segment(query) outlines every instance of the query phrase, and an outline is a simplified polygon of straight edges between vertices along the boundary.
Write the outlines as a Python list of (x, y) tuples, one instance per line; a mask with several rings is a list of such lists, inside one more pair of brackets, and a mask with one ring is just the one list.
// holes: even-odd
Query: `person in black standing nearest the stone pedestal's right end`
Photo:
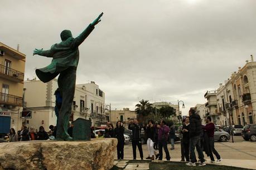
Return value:
[(124, 159), (124, 127), (121, 121), (117, 122), (114, 129), (114, 137), (117, 138), (117, 159)]

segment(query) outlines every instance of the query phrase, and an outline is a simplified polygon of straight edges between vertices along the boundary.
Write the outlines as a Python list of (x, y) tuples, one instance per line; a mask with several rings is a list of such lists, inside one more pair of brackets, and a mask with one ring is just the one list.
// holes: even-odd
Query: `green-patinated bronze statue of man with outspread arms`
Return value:
[(43, 49), (33, 51), (33, 55), (53, 58), (49, 66), (36, 69), (36, 75), (42, 82), (49, 82), (60, 74), (58, 86), (62, 96), (62, 106), (57, 119), (57, 140), (73, 141), (73, 138), (67, 133), (67, 124), (69, 123), (75, 93), (76, 68), (79, 62), (78, 47), (93, 31), (94, 26), (101, 21), (100, 17), (102, 16), (103, 13), (93, 23), (89, 24), (78, 37), (73, 38), (71, 31), (64, 30), (60, 34), (60, 43), (52, 45), (51, 49), (46, 51)]

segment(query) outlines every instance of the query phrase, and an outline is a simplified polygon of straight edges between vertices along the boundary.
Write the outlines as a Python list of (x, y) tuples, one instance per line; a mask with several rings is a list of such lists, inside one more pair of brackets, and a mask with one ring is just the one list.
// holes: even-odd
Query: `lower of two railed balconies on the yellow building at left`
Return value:
[(22, 106), (23, 98), (11, 94), (0, 93), (0, 104)]

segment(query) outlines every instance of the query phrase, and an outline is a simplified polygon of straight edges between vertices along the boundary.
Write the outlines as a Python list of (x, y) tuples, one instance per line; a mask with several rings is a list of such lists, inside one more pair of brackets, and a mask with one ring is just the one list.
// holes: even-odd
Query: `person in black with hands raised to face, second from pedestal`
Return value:
[(141, 126), (138, 124), (138, 120), (134, 119), (130, 121), (128, 129), (132, 131), (132, 151), (133, 151), (133, 159), (136, 159), (136, 146), (139, 149), (139, 156), (143, 160), (143, 151), (141, 145)]

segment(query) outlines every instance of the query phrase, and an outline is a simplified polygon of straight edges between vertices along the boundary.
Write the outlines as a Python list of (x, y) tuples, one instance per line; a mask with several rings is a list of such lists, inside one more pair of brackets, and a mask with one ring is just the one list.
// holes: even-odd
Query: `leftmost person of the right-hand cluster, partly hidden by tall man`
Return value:
[(182, 143), (183, 143), (184, 156), (185, 156), (187, 162), (190, 162), (190, 159), (189, 159), (189, 128), (190, 128), (189, 117), (186, 117), (185, 123), (182, 126), (182, 134), (183, 134)]

